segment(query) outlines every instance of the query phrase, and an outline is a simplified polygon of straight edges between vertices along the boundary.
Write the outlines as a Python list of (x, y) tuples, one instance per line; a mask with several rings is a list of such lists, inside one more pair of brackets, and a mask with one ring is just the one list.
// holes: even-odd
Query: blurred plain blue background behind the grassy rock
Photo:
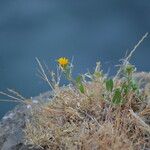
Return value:
[[(149, 0), (0, 0), (0, 91), (12, 88), (33, 97), (49, 87), (35, 57), (50, 69), (60, 56), (74, 56), (74, 75), (101, 60), (113, 75), (127, 50), (150, 31)], [(132, 58), (149, 71), (150, 37)], [(1, 97), (3, 98), (3, 97)], [(13, 103), (0, 103), (0, 118)]]

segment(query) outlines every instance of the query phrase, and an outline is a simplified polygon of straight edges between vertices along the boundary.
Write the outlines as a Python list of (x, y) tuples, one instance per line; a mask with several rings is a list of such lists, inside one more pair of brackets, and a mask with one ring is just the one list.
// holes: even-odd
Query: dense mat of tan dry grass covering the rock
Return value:
[(54, 150), (150, 148), (147, 99), (132, 96), (124, 106), (113, 106), (103, 98), (102, 82), (84, 86), (85, 94), (73, 87), (58, 89), (51, 102), (32, 109), (26, 143)]

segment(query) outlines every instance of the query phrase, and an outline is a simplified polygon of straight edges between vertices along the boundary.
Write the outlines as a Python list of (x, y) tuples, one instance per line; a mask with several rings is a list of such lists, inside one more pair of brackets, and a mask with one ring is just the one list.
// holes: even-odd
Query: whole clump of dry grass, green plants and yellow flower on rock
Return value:
[[(135, 80), (136, 68), (128, 57), (116, 76), (103, 73), (101, 63), (93, 72), (72, 77), (72, 62), (58, 59), (57, 73), (41, 77), (53, 90), (53, 98), (30, 109), (26, 123), (27, 145), (47, 150), (137, 150), (150, 149), (149, 96)], [(64, 75), (69, 80), (59, 87)]]

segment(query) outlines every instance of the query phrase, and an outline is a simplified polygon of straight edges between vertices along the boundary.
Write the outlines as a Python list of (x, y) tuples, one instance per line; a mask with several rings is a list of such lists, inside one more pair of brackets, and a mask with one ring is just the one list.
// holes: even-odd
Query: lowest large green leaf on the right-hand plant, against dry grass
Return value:
[(121, 90), (116, 89), (114, 92), (114, 96), (112, 99), (113, 104), (121, 104), (122, 103), (122, 96), (121, 96)]

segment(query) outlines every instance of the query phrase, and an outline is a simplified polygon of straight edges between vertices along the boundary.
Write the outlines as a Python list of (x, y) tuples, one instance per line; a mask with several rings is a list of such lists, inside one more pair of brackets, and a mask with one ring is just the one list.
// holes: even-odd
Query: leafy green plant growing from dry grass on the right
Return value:
[(114, 79), (106, 79), (105, 81), (107, 95), (109, 95), (108, 97), (113, 104), (124, 104), (131, 94), (140, 97), (139, 87), (133, 78), (136, 68), (131, 64), (127, 64), (123, 66), (122, 70), (122, 78), (119, 84), (116, 83), (118, 80)]

